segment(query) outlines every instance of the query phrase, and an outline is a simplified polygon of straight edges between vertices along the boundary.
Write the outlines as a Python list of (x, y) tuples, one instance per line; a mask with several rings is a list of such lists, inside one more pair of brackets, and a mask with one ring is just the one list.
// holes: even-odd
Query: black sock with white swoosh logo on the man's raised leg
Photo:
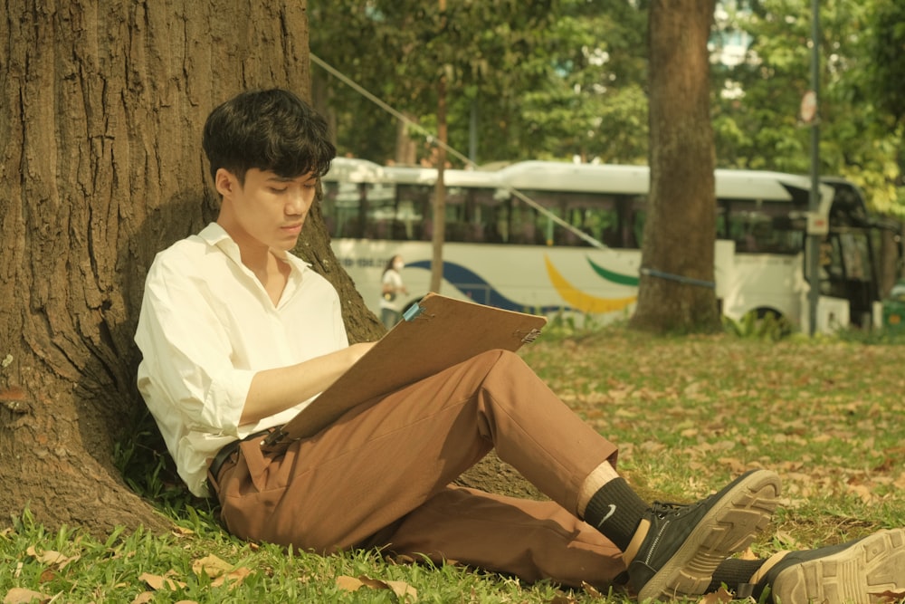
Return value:
[(584, 520), (625, 551), (648, 507), (624, 478), (614, 478), (591, 497)]

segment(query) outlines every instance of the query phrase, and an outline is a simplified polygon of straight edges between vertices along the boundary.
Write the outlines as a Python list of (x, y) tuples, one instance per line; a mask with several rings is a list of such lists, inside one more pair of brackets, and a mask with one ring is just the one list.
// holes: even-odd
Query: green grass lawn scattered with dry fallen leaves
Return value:
[[(692, 501), (745, 469), (776, 470), (783, 506), (752, 545), (767, 555), (905, 526), (905, 346), (897, 343), (845, 333), (772, 341), (554, 329), (523, 356), (621, 446), (620, 470), (648, 499)], [(407, 589), (418, 602), (628, 601), (456, 565), (387, 561), (374, 551), (323, 558), (240, 542), (214, 511), (161, 486), (159, 460), (143, 470), (155, 477), (150, 485), (127, 467), (138, 488), (167, 503), (161, 513), (174, 531), (120, 531), (101, 542), (75, 529), (45, 532), (26, 512), (0, 529), (0, 594), (27, 601), (11, 598), (32, 590), (54, 602), (413, 601), (397, 595)], [(370, 587), (343, 587), (357, 578)], [(155, 587), (166, 580), (174, 589)]]

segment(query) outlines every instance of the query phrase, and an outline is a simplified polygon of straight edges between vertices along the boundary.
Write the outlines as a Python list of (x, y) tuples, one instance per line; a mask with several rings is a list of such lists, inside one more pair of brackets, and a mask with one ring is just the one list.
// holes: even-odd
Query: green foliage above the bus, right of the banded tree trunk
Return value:
[[(902, 216), (903, 131), (889, 100), (900, 98), (905, 69), (887, 0), (820, 5), (820, 166), (850, 178), (875, 211)], [(809, 0), (755, 0), (733, 24), (753, 36), (755, 59), (714, 68), (714, 129), (720, 167), (810, 170), (811, 130), (798, 109), (812, 86)], [(881, 23), (882, 22), (882, 23)], [(882, 80), (882, 85), (881, 84)], [(741, 94), (724, 94), (727, 83)]]

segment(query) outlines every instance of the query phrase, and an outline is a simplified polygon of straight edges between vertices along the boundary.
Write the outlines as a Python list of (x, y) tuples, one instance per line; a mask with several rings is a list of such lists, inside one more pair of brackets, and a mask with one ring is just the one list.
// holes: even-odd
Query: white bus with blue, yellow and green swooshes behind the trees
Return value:
[[(715, 283), (732, 319), (772, 312), (807, 320), (804, 277), (809, 177), (716, 171)], [(371, 310), (381, 273), (402, 254), (414, 302), (430, 283), (432, 168), (337, 158), (323, 178), (332, 247)], [(441, 292), (500, 308), (605, 322), (627, 317), (638, 292), (649, 170), (524, 161), (498, 170), (444, 170)], [(814, 224), (828, 224), (817, 325), (869, 327), (881, 318), (872, 225), (861, 192), (824, 178)]]

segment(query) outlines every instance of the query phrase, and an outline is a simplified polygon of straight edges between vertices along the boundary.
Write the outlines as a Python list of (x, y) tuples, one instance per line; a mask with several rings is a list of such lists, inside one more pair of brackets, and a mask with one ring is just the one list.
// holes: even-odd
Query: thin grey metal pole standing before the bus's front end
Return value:
[[(808, 209), (812, 216), (820, 207), (820, 3), (811, 0), (811, 89), (817, 110), (811, 123), (811, 196)], [(820, 300), (820, 240), (822, 235), (807, 234), (808, 335), (817, 331), (817, 302)]]

